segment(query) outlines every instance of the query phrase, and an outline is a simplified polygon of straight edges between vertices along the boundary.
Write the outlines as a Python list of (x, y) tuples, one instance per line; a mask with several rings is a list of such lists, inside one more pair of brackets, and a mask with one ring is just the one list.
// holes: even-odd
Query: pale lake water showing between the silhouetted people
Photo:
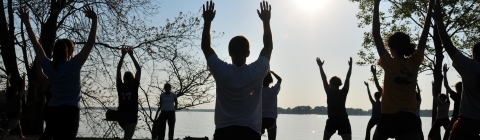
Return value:
[[(186, 136), (213, 138), (215, 132), (214, 113), (213, 112), (187, 112), (180, 111), (176, 113), (177, 121), (175, 124), (175, 138), (184, 138)], [(349, 116), (352, 126), (352, 139), (365, 139), (365, 129), (370, 116)], [(426, 137), (430, 131), (430, 117), (421, 117), (423, 124), (423, 133)], [(279, 114), (277, 119), (277, 139), (278, 140), (319, 140), (323, 139), (323, 131), (327, 120), (326, 115), (295, 115)], [(145, 126), (144, 122), (139, 121), (138, 125)], [(118, 126), (118, 125), (117, 125)], [(119, 127), (119, 126), (118, 126)], [(168, 129), (168, 127), (167, 127)], [(375, 127), (372, 129), (375, 130)], [(444, 133), (443, 128), (441, 129)], [(78, 137), (92, 137), (86, 128), (86, 124), (81, 123)], [(167, 133), (166, 133), (167, 134)], [(372, 135), (371, 134), (371, 135)], [(120, 135), (123, 137), (123, 134)], [(102, 137), (102, 136), (94, 136)], [(146, 130), (135, 131), (134, 138), (151, 138)], [(262, 140), (267, 140), (263, 135)], [(334, 134), (331, 140), (341, 140), (342, 138)]]

